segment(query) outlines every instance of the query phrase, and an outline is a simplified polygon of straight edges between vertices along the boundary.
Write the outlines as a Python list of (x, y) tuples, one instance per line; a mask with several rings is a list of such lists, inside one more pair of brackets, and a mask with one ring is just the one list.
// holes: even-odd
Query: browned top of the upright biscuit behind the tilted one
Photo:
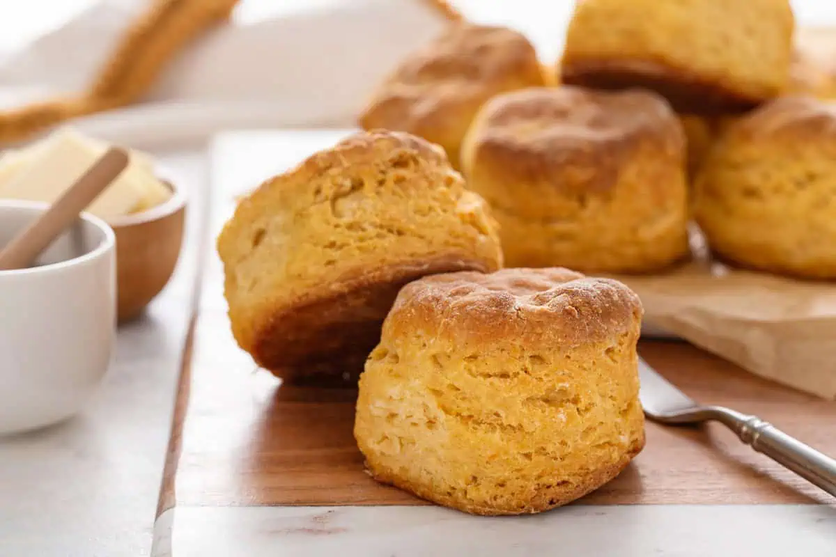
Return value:
[[(638, 149), (685, 149), (665, 99), (643, 90), (595, 91), (564, 85), (502, 94), (487, 102), (465, 139), (462, 162), (518, 180), (607, 190)], [(561, 180), (573, 174), (573, 180)]]

